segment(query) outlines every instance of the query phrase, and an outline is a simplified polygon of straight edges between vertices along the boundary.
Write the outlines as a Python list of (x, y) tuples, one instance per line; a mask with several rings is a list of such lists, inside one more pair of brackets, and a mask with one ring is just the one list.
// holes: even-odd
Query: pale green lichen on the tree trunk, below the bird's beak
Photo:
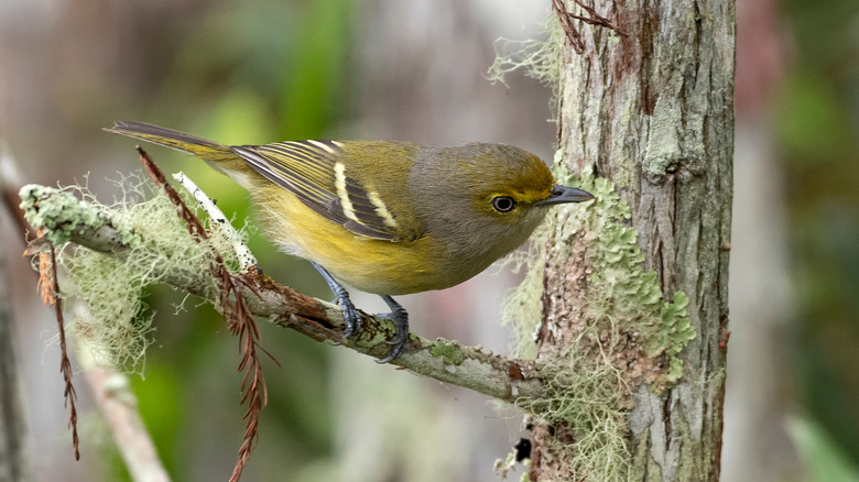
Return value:
[[(621, 372), (626, 365), (612, 361), (621, 355), (626, 357), (624, 362), (630, 357), (633, 362), (644, 355), (668, 357), (668, 369), (651, 374), (659, 379), (654, 386), (676, 381), (683, 374), (677, 354), (695, 337), (686, 314), (688, 297), (677, 292), (666, 300), (655, 272), (643, 269), (638, 234), (629, 226), (629, 207), (620, 200), (615, 186), (596, 178), (589, 168), (581, 176), (573, 176), (557, 156), (555, 161), (559, 184), (580, 187), (596, 199), (561, 208), (556, 218), (551, 218), (537, 238), (532, 239), (528, 253), (517, 259), (520, 264), (529, 264), (530, 272), (507, 300), (503, 314), (520, 337), (514, 351), (520, 355), (534, 353), (534, 332), (543, 321), (545, 247), (551, 243), (557, 252), (570, 247), (568, 240), (573, 237), (581, 235), (587, 245), (588, 292), (583, 308), (588, 326), (578, 339), (585, 344), (569, 347), (568, 360), (562, 361), (566, 364), (552, 377), (550, 395), (522, 398), (517, 405), (572, 432), (573, 442), (558, 447), (556, 453), (565, 453), (573, 473), (586, 476), (585, 480), (621, 481), (626, 480), (629, 461), (626, 417), (630, 388), (627, 373)], [(618, 348), (621, 337), (629, 342), (629, 335), (641, 340), (638, 351), (634, 347)]]

